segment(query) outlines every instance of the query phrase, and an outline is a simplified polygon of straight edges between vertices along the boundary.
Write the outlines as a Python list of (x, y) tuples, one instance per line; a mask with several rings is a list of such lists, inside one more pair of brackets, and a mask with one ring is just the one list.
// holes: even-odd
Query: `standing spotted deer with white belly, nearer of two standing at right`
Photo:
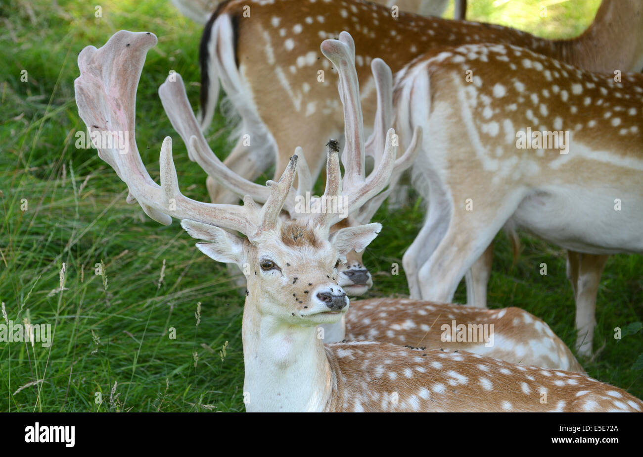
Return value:
[[(428, 216), (403, 257), (412, 297), (451, 301), (506, 225), (584, 253), (576, 256), (643, 252), (640, 73), (593, 73), (507, 44), (472, 44), (417, 59), (394, 90), (401, 145), (413, 128), (425, 132), (413, 178), (430, 194)], [(572, 281), (583, 354), (592, 348), (598, 264)]]

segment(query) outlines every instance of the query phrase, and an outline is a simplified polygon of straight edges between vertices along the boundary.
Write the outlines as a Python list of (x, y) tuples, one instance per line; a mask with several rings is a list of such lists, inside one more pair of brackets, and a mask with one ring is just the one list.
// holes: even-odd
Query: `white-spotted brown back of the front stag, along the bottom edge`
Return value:
[(326, 356), (327, 411), (643, 411), (635, 396), (586, 375), (466, 351), (338, 343), (326, 346)]

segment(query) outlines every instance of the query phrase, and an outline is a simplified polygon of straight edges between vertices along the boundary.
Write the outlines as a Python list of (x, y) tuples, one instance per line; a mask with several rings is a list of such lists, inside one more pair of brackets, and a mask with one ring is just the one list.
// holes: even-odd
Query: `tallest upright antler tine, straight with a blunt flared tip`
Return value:
[(341, 156), (344, 164), (344, 187), (359, 186), (365, 179), (364, 121), (359, 100), (359, 82), (355, 70), (355, 44), (347, 32), (340, 40), (324, 40), (321, 52), (337, 68), (340, 79), (340, 98), (344, 105), (345, 147)]

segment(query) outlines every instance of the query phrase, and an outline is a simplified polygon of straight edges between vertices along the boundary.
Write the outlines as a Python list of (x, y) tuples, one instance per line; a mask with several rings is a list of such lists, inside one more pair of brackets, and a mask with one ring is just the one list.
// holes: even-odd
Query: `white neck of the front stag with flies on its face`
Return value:
[(324, 411), (333, 375), (316, 328), (262, 315), (246, 297), (242, 339), (246, 411)]

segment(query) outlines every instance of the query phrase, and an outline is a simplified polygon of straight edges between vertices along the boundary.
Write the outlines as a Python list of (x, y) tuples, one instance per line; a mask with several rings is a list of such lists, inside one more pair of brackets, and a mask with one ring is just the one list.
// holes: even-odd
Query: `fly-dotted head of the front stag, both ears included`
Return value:
[[(193, 238), (208, 241), (197, 243), (206, 256), (236, 263), (245, 272), (246, 306), (256, 305), (258, 313), (279, 322), (314, 326), (336, 322), (348, 309), (349, 300), (337, 281), (337, 268), (346, 261), (349, 252), (364, 250), (381, 225), (345, 227), (331, 236), (330, 224), (323, 218), (279, 218), (284, 196), (293, 182), (296, 161), (297, 156), (293, 156), (280, 181), (271, 185), (275, 198), (262, 208), (266, 214), (262, 228), (249, 231), (253, 238), (185, 219), (181, 225)], [(326, 195), (337, 194), (339, 171), (338, 155), (329, 151)]]

